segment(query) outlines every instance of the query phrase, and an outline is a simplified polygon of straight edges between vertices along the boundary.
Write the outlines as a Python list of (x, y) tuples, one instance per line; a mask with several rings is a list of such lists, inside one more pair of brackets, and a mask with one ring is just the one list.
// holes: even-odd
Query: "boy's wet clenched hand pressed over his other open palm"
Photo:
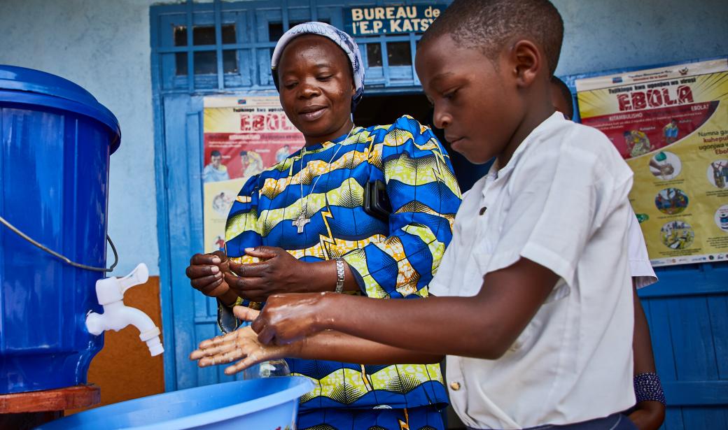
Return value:
[[(255, 315), (250, 327), (258, 333), (264, 345), (286, 345), (325, 330), (321, 324), (325, 304), (333, 293), (282, 294), (268, 298), (266, 306)], [(236, 308), (237, 309), (237, 308)], [(235, 314), (241, 319), (253, 319), (252, 309), (240, 308)]]

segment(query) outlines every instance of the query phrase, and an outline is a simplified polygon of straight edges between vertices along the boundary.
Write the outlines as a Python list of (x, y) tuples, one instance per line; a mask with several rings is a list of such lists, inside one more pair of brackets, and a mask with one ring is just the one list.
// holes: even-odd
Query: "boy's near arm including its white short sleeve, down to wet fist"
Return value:
[(620, 220), (611, 217), (624, 215), (628, 204), (631, 172), (612, 144), (591, 129), (569, 141), (579, 139), (602, 142), (598, 151), (571, 144), (558, 151), (544, 149), (540, 159), (519, 164), (519, 175), (510, 180), (514, 198), (499, 237), (491, 246), (476, 243), (473, 250), (490, 255), (487, 266), (476, 269), (485, 275), (477, 295), (379, 301), (273, 295), (253, 330), (266, 344), (336, 330), (430, 354), (501, 357), (560, 277), (560, 288), (574, 285), (575, 262), (593, 231), (612, 219), (618, 225)]

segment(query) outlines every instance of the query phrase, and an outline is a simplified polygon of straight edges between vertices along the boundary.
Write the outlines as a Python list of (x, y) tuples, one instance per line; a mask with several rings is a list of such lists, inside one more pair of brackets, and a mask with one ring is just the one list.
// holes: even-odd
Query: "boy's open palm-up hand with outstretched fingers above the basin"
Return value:
[[(248, 321), (258, 316), (258, 311), (242, 306), (235, 306), (233, 312), (238, 318)], [(199, 367), (223, 365), (238, 360), (234, 365), (225, 368), (226, 375), (233, 375), (261, 362), (294, 357), (297, 349), (296, 344), (266, 346), (258, 341), (258, 335), (248, 326), (202, 341), (198, 349), (189, 354), (189, 358), (198, 360)]]

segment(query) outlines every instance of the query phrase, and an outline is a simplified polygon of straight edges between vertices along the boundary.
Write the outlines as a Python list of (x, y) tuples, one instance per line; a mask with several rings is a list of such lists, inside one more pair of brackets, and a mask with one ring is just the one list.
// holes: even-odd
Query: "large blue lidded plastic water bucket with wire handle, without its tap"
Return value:
[[(58, 76), (0, 65), (0, 217), (70, 260), (106, 267), (108, 159), (119, 122)], [(85, 383), (101, 336), (102, 272), (69, 266), (0, 224), (0, 394)]]

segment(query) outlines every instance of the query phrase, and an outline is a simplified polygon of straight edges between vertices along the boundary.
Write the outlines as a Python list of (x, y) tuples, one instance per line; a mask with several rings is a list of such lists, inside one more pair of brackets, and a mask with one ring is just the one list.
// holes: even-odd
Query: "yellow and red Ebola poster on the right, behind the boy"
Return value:
[(582, 123), (634, 172), (653, 266), (728, 255), (728, 59), (577, 79)]

